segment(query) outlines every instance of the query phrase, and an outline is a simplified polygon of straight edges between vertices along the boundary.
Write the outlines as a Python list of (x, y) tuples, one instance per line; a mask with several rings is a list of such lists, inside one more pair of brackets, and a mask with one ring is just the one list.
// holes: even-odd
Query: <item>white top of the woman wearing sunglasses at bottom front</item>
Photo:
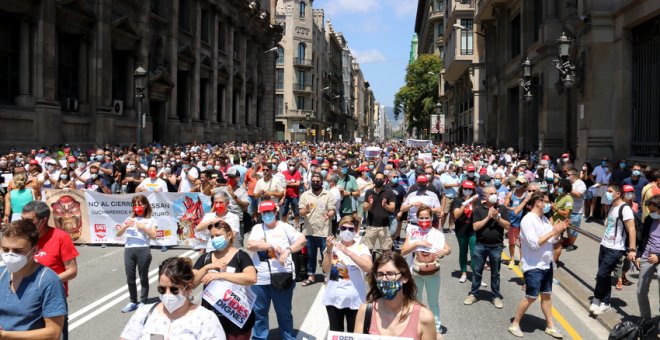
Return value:
[(121, 332), (122, 339), (150, 340), (152, 334), (163, 335), (164, 339), (227, 339), (215, 313), (202, 306), (172, 321), (156, 309), (144, 323), (151, 307), (153, 304), (143, 305), (135, 311)]

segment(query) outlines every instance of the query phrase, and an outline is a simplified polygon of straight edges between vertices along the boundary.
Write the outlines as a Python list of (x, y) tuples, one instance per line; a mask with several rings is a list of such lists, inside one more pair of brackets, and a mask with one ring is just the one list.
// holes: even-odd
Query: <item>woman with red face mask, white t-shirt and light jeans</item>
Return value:
[(420, 206), (417, 210), (417, 225), (406, 230), (406, 241), (401, 247), (401, 255), (406, 256), (417, 284), (417, 300), (422, 301), (422, 291), (426, 290), (427, 305), (433, 312), (435, 329), (442, 330), (440, 321), (440, 259), (449, 255), (451, 249), (445, 242), (445, 236), (431, 226), (433, 213), (431, 208)]

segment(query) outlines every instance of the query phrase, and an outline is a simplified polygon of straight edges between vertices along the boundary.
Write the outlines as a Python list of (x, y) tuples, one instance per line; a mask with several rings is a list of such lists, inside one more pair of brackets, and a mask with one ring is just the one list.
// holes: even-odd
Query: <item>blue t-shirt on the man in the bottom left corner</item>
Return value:
[(0, 327), (6, 331), (44, 328), (44, 318), (66, 315), (66, 295), (60, 278), (50, 268), (39, 268), (23, 279), (16, 293), (10, 273), (0, 268)]

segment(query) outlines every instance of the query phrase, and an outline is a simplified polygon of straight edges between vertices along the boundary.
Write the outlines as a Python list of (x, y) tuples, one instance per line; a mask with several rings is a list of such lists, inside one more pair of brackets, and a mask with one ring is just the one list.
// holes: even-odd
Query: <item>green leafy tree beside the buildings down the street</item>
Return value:
[[(418, 131), (428, 128), (431, 115), (435, 114), (435, 104), (440, 100), (438, 81), (442, 60), (439, 56), (423, 54), (408, 65), (406, 84), (394, 97), (394, 118), (404, 113), (408, 130), (416, 127)], [(413, 117), (416, 118), (413, 120)]]

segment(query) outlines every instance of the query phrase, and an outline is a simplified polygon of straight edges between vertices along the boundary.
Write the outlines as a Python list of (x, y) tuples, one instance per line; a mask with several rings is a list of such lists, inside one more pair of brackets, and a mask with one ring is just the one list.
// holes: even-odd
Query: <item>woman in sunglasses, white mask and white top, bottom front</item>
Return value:
[(227, 339), (213, 311), (194, 304), (192, 261), (170, 257), (158, 267), (160, 302), (141, 306), (121, 333), (122, 340)]

